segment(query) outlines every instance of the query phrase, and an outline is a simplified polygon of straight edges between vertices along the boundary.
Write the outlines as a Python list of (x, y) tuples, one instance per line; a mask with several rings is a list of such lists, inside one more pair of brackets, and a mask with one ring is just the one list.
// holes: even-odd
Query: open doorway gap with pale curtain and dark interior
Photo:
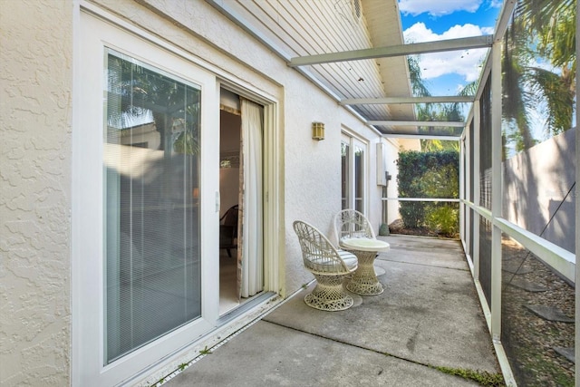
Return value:
[(219, 314), (264, 289), (260, 105), (220, 90)]

